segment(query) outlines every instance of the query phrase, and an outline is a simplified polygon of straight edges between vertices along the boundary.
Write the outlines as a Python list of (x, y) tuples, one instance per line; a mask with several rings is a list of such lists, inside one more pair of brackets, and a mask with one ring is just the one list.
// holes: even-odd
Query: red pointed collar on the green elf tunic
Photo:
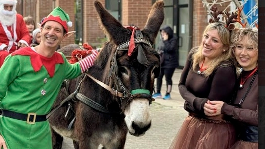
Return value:
[(51, 77), (53, 77), (55, 72), (55, 64), (64, 63), (62, 55), (58, 52), (55, 52), (53, 56), (49, 58), (39, 55), (30, 47), (20, 48), (19, 50), (13, 52), (11, 55), (30, 56), (31, 65), (34, 71), (37, 72), (41, 69), (41, 66), (44, 66)]

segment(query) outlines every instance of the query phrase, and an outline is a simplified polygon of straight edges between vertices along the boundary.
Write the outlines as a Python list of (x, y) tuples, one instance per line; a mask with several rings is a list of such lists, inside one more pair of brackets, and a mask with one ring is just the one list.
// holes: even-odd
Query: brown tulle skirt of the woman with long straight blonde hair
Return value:
[(235, 141), (235, 129), (230, 122), (189, 115), (170, 149), (230, 149)]

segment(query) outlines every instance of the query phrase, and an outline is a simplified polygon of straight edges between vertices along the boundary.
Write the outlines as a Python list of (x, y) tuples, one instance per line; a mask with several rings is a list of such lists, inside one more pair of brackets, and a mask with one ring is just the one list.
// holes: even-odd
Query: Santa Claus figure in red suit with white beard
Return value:
[(17, 14), (17, 0), (0, 0), (0, 67), (6, 56), (29, 46), (31, 37), (23, 17)]

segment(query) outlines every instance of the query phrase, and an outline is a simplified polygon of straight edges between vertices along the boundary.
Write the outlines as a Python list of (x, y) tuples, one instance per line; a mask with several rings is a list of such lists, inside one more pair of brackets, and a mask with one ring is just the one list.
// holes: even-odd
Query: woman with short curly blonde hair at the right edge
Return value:
[[(235, 120), (239, 140), (230, 149), (258, 149), (258, 29), (240, 28), (231, 37), (235, 58), (243, 69), (238, 81), (236, 98), (229, 105), (223, 101), (209, 101), (205, 111), (226, 114)], [(212, 113), (212, 108), (216, 112)]]

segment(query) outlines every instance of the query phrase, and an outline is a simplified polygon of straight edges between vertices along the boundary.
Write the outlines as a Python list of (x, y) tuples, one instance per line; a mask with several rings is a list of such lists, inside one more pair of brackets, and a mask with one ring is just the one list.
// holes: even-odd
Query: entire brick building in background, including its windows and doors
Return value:
[[(124, 26), (137, 25), (143, 29), (150, 8), (156, 0), (100, 1)], [(205, 0), (164, 0), (165, 19), (162, 25), (171, 26), (179, 39), (176, 50), (180, 66), (184, 66), (189, 50), (200, 44), (202, 32), (208, 24), (209, 16), (202, 1)], [(106, 38), (98, 24), (93, 2), (94, 0), (18, 0), (17, 12), (24, 17), (32, 16), (39, 22), (53, 8), (60, 6), (73, 22), (70, 31), (76, 31), (75, 36), (63, 41), (61, 46), (78, 42), (100, 46)], [(223, 4), (223, 7), (227, 5), (229, 3)], [(158, 39), (159, 37), (157, 41)]]

